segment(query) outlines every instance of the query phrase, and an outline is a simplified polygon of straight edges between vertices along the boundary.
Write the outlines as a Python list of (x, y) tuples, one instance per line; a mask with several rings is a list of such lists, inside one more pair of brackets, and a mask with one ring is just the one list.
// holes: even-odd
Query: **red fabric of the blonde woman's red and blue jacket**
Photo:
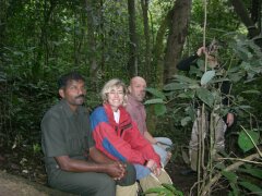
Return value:
[[(119, 124), (114, 119), (114, 112), (109, 105), (104, 105), (108, 122), (99, 121), (93, 132), (96, 147), (114, 159), (121, 160), (121, 156), (131, 163), (144, 164), (153, 159), (160, 167), (160, 158), (154, 151), (152, 145), (141, 135), (138, 126), (132, 122), (130, 114), (123, 107), (120, 107)], [(100, 113), (94, 111), (91, 121), (97, 121)], [(96, 119), (96, 120), (95, 120)], [(104, 118), (105, 119), (105, 118)], [(116, 150), (106, 147), (105, 139)], [(107, 143), (108, 144), (108, 143)]]

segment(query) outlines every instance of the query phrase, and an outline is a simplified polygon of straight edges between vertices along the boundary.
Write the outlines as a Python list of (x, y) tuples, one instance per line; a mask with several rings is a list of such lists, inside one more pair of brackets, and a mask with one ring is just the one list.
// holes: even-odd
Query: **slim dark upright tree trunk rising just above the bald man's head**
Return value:
[(128, 0), (129, 12), (129, 62), (128, 70), (130, 77), (138, 75), (138, 38), (135, 33), (135, 0)]

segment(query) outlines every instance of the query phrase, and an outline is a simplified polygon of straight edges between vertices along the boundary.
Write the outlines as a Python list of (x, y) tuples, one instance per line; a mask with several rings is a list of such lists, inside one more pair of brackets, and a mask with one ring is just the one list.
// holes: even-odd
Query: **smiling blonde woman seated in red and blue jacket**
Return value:
[(126, 85), (117, 78), (103, 87), (103, 107), (96, 108), (91, 114), (96, 147), (111, 159), (133, 163), (143, 191), (160, 186), (162, 183), (171, 184), (160, 167), (159, 156), (122, 107), (126, 95)]

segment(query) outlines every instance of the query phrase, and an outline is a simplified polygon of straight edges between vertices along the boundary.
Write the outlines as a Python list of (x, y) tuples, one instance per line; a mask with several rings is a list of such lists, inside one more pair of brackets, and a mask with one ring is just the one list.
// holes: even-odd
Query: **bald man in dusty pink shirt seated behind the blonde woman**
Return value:
[(153, 146), (154, 150), (160, 157), (163, 167), (171, 158), (169, 149), (172, 146), (171, 139), (167, 137), (153, 137), (146, 127), (146, 112), (142, 101), (145, 98), (146, 82), (140, 76), (131, 78), (128, 87), (128, 101), (126, 110), (130, 113), (132, 120), (138, 124), (139, 131)]

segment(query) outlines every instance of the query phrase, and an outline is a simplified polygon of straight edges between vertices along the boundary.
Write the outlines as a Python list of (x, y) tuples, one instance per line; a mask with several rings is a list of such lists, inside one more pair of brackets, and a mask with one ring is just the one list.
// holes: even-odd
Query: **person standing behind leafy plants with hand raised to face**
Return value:
[[(181, 60), (178, 64), (177, 64), (177, 69), (181, 70), (181, 71), (190, 71), (191, 66), (198, 66), (196, 60), (202, 56), (202, 54), (206, 54), (206, 59), (207, 59), (207, 65), (210, 69), (214, 69), (214, 70), (218, 70), (219, 68), (219, 63), (217, 60), (217, 48), (218, 46), (214, 42), (212, 44), (209, 49), (206, 49), (205, 47), (200, 47), (198, 49), (198, 51), (195, 52), (195, 54)], [(200, 69), (200, 68), (199, 68)], [(229, 107), (229, 99), (228, 99), (228, 95), (230, 93), (230, 83), (228, 81), (224, 81), (221, 85), (221, 91), (223, 95), (223, 99), (222, 99), (222, 105)], [(205, 112), (205, 111), (203, 111)], [(190, 155), (190, 163), (191, 163), (191, 169), (193, 171), (196, 171), (198, 168), (198, 149), (199, 149), (199, 127), (198, 127), (198, 121), (201, 120), (201, 110), (200, 107), (198, 108), (196, 111), (196, 119), (193, 123), (193, 127), (192, 127), (192, 133), (191, 133), (191, 139), (189, 143), (189, 155)], [(205, 112), (205, 115), (207, 115), (207, 113)], [(209, 117), (206, 117), (205, 120), (205, 130), (204, 130), (204, 134), (206, 134), (206, 131), (209, 128)], [(235, 120), (235, 115), (234, 113), (229, 110), (229, 112), (226, 114), (225, 118), (219, 117), (218, 114), (215, 115), (215, 151), (224, 151), (225, 150), (225, 132), (227, 130), (227, 127), (230, 127), (234, 123)], [(214, 155), (217, 155), (216, 152), (214, 152)]]

